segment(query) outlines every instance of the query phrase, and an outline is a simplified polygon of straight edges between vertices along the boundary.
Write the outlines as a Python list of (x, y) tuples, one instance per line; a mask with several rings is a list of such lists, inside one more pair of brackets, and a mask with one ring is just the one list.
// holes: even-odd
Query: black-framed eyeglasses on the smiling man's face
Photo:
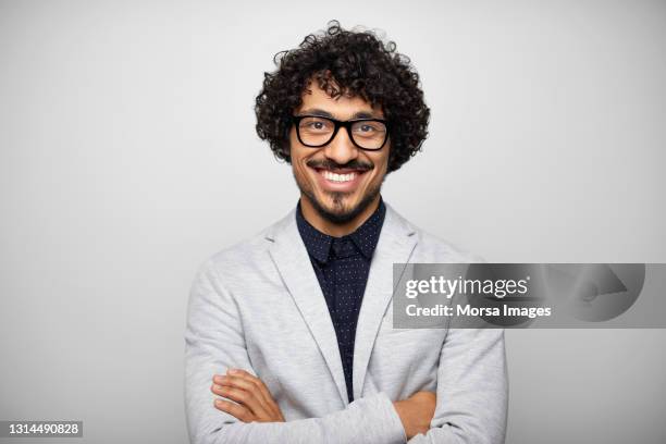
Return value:
[(320, 148), (335, 138), (341, 127), (347, 130), (349, 138), (360, 149), (380, 150), (388, 139), (387, 122), (381, 119), (357, 119), (338, 121), (319, 115), (294, 115), (296, 136), (306, 147)]

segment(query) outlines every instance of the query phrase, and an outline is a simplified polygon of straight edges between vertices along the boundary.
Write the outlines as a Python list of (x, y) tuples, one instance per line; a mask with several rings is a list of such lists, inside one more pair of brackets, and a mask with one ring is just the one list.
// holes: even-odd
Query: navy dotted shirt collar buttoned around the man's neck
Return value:
[[(384, 201), (380, 198), (380, 205), (377, 210), (362, 223), (354, 233), (350, 233), (346, 236), (340, 237), (341, 239), (344, 237), (348, 237), (351, 239), (354, 245), (358, 248), (358, 250), (366, 257), (366, 259), (370, 260), (372, 258), (372, 254), (377, 248), (377, 243), (379, 242), (379, 236), (382, 231), (382, 225), (384, 223), (384, 217), (386, 215), (386, 206)], [(310, 225), (308, 221), (303, 217), (303, 212), (300, 210), (300, 201), (296, 208), (296, 224), (298, 226), (298, 231), (300, 233), (300, 237), (308, 250), (308, 254), (317, 259), (317, 261), (321, 263), (326, 263), (329, 258), (331, 257), (331, 245), (335, 237), (329, 236)]]

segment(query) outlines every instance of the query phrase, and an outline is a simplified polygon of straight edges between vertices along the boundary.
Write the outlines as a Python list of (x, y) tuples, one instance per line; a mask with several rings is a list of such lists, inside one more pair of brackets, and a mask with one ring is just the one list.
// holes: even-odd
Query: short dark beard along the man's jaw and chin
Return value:
[[(317, 164), (318, 166), (320, 164)], [(373, 169), (374, 165), (369, 165), (368, 170)], [(359, 214), (361, 214), (374, 201), (374, 199), (379, 196), (382, 183), (385, 178), (382, 177), (382, 182), (378, 185), (370, 187), (360, 201), (354, 206), (349, 207), (345, 205), (345, 197), (351, 196), (351, 193), (340, 193), (340, 192), (324, 192), (328, 196), (331, 197), (333, 202), (332, 207), (326, 206), (320, 199), (317, 198), (314, 190), (310, 186), (308, 182), (301, 180), (301, 177), (296, 174), (294, 171), (294, 178), (296, 180), (296, 185), (303, 196), (308, 199), (308, 201), (312, 205), (314, 210), (321, 215), (323, 219), (328, 220), (337, 225), (345, 224), (347, 222), (353, 221)]]

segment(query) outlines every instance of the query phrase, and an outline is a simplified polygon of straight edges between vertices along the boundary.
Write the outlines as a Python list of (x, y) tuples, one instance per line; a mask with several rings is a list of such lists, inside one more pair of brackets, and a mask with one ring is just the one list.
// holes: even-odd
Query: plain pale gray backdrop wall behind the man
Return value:
[[(431, 136), (384, 188), (415, 224), (493, 262), (666, 262), (665, 2), (2, 1), (0, 419), (185, 442), (195, 270), (297, 198), (254, 97), (330, 18), (422, 76)], [(507, 443), (666, 442), (665, 340), (507, 332)]]

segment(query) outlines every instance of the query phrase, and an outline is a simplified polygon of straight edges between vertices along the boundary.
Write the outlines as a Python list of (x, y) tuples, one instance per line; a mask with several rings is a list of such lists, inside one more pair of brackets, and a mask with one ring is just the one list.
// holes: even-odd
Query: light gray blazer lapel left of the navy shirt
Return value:
[(269, 248), (271, 258), (323, 355), (344, 405), (347, 405), (349, 402), (335, 329), (310, 257), (298, 233), (295, 212), (292, 211), (279, 222), (268, 233), (267, 239), (272, 242)]

